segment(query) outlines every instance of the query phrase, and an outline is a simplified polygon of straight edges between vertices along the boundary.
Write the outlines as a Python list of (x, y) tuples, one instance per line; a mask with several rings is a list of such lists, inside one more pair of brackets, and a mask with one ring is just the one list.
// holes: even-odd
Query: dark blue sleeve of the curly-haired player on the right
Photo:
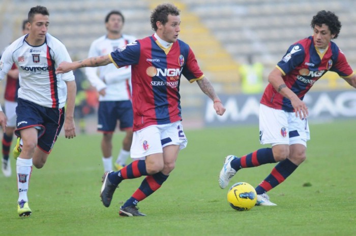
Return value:
[(277, 68), (283, 75), (288, 74), (300, 65), (305, 58), (305, 50), (301, 44), (291, 45), (287, 53), (283, 56), (282, 60), (277, 63)]

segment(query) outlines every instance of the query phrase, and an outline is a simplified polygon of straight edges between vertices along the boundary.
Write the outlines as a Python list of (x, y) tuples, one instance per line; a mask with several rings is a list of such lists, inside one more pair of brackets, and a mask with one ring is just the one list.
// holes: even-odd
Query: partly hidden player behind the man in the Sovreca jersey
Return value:
[[(22, 35), (29, 32), (27, 20), (22, 21)], [(13, 134), (16, 128), (16, 107), (17, 107), (17, 90), (20, 87), (18, 78), (18, 69), (16, 64), (12, 64), (12, 68), (7, 74), (5, 87), (5, 113), (7, 119), (6, 132), (3, 134), (3, 162), (2, 171), (5, 177), (11, 176), (11, 164), (9, 159), (10, 147)]]

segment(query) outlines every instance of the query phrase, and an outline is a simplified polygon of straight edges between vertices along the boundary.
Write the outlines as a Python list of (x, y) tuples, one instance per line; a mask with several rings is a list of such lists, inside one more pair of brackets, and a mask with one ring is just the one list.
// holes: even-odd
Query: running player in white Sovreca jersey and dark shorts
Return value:
[[(32, 165), (43, 167), (63, 125), (66, 138), (71, 139), (76, 135), (73, 118), (76, 85), (73, 73), (55, 74), (57, 66), (62, 61), (71, 61), (71, 58), (66, 47), (47, 33), (48, 25), (47, 8), (31, 8), (28, 12), (28, 35), (13, 42), (0, 60), (0, 80), (5, 78), (13, 63), (19, 69), (15, 134), (21, 138), (21, 142), (18, 139), (14, 157), (17, 157), (17, 213), (20, 217), (32, 214), (27, 197)], [(5, 131), (6, 117), (3, 112), (0, 112), (0, 124)]]

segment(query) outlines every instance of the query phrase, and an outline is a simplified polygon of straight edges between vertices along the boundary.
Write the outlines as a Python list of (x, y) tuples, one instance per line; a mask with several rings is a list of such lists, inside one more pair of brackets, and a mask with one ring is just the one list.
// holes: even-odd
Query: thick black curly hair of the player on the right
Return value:
[(341, 29), (341, 22), (339, 21), (339, 17), (335, 15), (334, 12), (330, 11), (319, 11), (310, 23), (312, 29), (314, 26), (321, 26), (322, 24), (328, 25), (332, 35), (335, 35), (334, 39), (338, 38), (340, 29)]

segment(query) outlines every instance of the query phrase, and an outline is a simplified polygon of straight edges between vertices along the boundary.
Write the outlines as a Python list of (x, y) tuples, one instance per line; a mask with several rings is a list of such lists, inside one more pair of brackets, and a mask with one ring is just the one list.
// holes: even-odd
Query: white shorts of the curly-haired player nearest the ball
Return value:
[(306, 118), (295, 117), (295, 112), (259, 106), (259, 142), (261, 144), (302, 144), (307, 147), (310, 140)]

